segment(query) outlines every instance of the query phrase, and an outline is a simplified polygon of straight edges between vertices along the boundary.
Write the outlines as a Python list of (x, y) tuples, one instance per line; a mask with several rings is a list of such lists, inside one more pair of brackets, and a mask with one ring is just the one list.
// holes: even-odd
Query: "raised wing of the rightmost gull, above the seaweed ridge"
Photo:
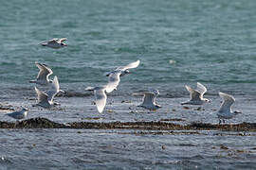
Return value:
[(221, 104), (219, 112), (231, 112), (231, 105), (234, 103), (235, 99), (232, 95), (227, 93), (219, 93), (220, 97), (224, 100)]

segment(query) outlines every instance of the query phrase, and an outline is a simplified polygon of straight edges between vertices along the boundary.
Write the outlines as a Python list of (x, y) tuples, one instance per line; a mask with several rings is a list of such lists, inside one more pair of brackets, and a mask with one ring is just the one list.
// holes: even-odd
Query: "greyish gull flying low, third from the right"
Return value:
[(155, 103), (155, 98), (156, 98), (156, 95), (158, 94), (159, 92), (157, 90), (144, 93), (143, 102), (137, 107), (142, 107), (147, 110), (157, 110), (159, 108), (162, 108), (161, 106)]

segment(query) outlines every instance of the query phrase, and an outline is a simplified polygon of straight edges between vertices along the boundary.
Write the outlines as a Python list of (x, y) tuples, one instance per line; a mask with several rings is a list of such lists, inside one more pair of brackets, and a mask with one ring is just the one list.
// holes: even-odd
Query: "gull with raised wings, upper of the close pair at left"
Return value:
[(36, 83), (43, 86), (52, 83), (52, 80), (49, 79), (49, 76), (53, 74), (52, 70), (46, 64), (41, 64), (39, 62), (35, 62), (35, 64), (39, 68), (39, 72), (36, 79), (30, 80), (29, 83)]

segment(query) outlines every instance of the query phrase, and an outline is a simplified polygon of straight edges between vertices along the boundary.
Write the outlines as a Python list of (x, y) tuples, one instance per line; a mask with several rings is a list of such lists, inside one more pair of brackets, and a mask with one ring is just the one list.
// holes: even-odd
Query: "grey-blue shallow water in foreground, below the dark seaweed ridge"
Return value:
[(129, 134), (133, 131), (1, 129), (0, 164), (3, 169), (255, 168), (255, 133)]

